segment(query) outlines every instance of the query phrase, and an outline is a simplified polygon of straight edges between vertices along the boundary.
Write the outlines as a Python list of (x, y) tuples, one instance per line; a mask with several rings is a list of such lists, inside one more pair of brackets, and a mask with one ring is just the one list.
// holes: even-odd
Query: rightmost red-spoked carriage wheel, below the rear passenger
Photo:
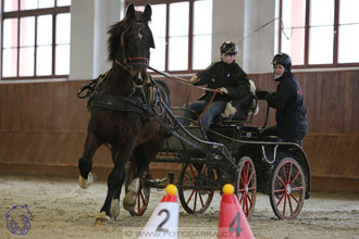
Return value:
[(281, 219), (298, 216), (305, 203), (306, 184), (298, 162), (285, 158), (275, 167), (271, 185), (271, 205)]

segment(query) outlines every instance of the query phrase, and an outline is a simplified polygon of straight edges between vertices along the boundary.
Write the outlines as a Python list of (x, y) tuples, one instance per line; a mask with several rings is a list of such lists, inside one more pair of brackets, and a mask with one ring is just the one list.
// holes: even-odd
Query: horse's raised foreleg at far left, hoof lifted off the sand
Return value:
[(87, 189), (96, 180), (96, 175), (91, 174), (90, 171), (92, 168), (92, 156), (100, 146), (101, 143), (97, 137), (89, 130), (85, 142), (85, 151), (83, 156), (78, 160), (78, 184), (83, 189)]

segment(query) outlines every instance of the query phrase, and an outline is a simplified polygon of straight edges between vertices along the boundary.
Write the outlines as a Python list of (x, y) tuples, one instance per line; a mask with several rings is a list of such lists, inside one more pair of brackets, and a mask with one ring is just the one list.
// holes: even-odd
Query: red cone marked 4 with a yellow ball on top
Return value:
[(234, 187), (232, 185), (223, 186), (218, 238), (255, 238), (238, 199), (233, 192)]

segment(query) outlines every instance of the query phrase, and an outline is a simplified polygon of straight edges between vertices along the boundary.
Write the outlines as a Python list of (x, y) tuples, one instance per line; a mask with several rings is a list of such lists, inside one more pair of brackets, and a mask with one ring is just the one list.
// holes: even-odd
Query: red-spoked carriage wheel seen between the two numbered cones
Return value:
[(183, 166), (178, 178), (178, 197), (187, 213), (203, 213), (211, 204), (214, 189), (203, 189), (208, 179), (214, 180), (214, 171), (206, 164), (186, 163)]

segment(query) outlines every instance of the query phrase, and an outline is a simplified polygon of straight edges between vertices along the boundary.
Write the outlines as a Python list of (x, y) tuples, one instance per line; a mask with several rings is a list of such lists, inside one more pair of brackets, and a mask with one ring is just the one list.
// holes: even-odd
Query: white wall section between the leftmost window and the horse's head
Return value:
[(107, 30), (122, 10), (123, 0), (72, 1), (70, 79), (92, 79), (111, 67)]

